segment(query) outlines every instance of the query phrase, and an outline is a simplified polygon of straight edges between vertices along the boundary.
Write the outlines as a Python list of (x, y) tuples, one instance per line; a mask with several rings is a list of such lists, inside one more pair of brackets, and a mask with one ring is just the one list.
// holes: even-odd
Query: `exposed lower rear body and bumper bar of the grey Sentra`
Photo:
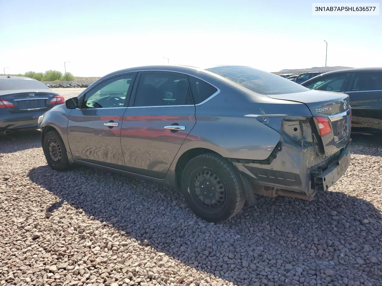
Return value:
[(345, 174), (350, 165), (350, 142), (332, 156), (317, 156), (316, 146), (296, 149), (283, 145), (269, 164), (235, 160), (232, 163), (246, 181), (247, 194), (254, 192), (272, 197), (283, 195), (312, 200), (317, 191), (328, 190)]

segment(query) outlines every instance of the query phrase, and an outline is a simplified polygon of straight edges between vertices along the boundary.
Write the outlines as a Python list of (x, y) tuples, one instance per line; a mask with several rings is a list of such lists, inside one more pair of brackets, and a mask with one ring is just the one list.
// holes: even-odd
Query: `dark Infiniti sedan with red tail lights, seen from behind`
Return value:
[(62, 96), (29, 77), (0, 77), (0, 132), (38, 127), (39, 116), (64, 103)]

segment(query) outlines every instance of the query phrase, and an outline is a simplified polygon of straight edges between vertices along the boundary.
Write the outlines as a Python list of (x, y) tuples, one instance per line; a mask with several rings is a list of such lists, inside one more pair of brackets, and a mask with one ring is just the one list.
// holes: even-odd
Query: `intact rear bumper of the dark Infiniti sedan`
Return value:
[(45, 112), (46, 110), (0, 114), (0, 131), (37, 128), (39, 116)]

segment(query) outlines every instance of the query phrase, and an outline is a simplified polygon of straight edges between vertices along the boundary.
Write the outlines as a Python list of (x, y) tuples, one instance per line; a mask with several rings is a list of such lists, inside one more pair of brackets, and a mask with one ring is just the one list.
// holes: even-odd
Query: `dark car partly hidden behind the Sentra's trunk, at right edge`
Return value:
[(382, 133), (382, 67), (327, 72), (301, 85), (346, 93), (352, 110), (351, 131)]

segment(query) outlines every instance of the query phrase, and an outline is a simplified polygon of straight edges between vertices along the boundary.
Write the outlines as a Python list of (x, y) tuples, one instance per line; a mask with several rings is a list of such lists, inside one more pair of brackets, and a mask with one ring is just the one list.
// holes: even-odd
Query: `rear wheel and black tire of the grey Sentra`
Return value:
[(246, 200), (238, 171), (213, 153), (196, 156), (186, 164), (181, 190), (191, 210), (207, 222), (230, 219)]

